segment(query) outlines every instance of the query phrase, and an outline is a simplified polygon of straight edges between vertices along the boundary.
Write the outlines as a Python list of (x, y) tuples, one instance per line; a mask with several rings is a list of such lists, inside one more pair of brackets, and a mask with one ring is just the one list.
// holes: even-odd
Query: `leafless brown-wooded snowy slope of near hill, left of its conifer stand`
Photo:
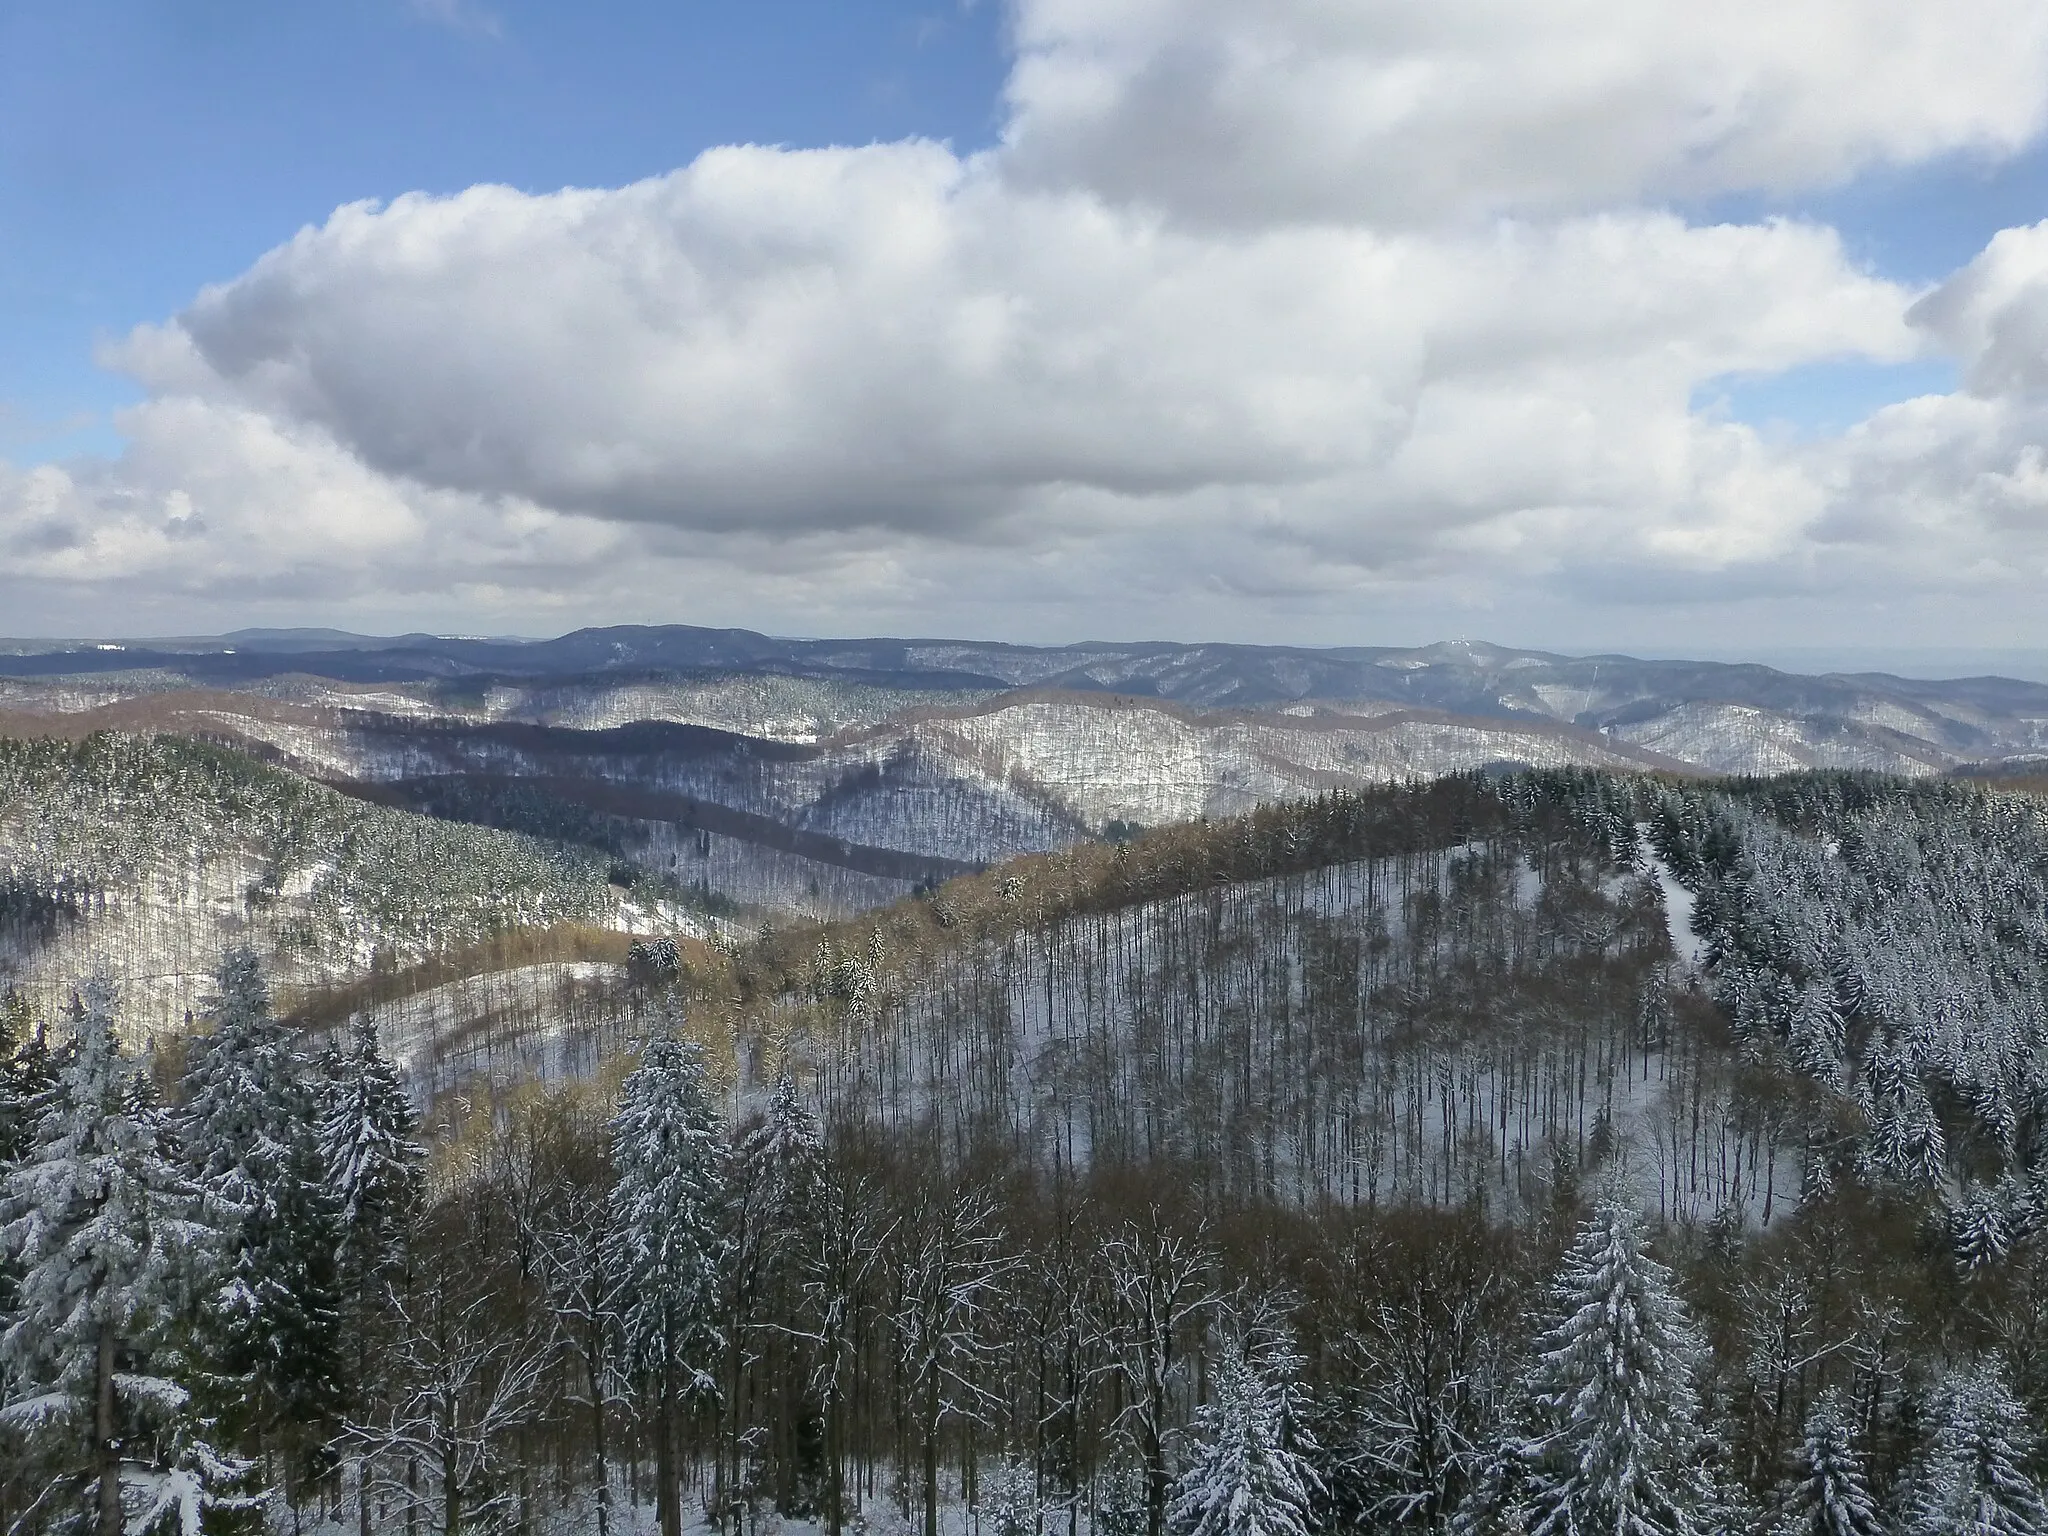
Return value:
[(766, 940), (741, 1016), (834, 1114), (963, 1161), (1520, 1208), (1624, 1126), (1665, 1147), (1681, 1106), (1651, 1200), (1761, 1206), (1776, 1143), (1737, 1124), (1739, 1063), (1640, 858), (1661, 793), (1456, 776), (1014, 860)]

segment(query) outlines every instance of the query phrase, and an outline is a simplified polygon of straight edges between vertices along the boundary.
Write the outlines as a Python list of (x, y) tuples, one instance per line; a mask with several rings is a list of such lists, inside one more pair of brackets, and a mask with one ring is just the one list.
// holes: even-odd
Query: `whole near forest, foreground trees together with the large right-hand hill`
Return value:
[(2048, 1532), (2030, 797), (1339, 793), (463, 1053), (209, 965), (0, 1006), (10, 1532)]

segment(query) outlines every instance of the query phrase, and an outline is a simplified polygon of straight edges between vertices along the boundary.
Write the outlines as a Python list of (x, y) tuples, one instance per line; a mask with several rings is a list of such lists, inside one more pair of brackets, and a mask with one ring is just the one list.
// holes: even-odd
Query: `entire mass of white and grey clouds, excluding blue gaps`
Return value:
[[(2028, 143), (2038, 4), (1024, 0), (1016, 35), (979, 156), (336, 211), (109, 350), (123, 459), (0, 469), (0, 598), (1552, 639), (2042, 571), (2048, 225), (1915, 293), (1663, 207)], [(1841, 438), (1696, 406), (1931, 354), (1962, 393)]]

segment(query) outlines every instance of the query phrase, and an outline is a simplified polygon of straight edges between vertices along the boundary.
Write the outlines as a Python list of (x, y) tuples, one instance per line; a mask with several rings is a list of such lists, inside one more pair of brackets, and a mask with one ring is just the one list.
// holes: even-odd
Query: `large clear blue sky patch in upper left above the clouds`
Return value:
[(342, 203), (657, 176), (719, 143), (985, 145), (993, 0), (0, 0), (0, 453), (119, 446), (100, 338)]

